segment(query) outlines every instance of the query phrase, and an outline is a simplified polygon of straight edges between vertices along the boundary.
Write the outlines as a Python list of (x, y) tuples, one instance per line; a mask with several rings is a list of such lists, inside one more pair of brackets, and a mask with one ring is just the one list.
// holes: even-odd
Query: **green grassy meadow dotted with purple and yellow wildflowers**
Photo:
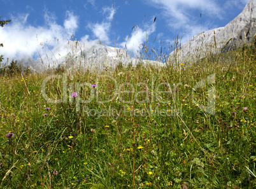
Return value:
[(101, 72), (11, 65), (0, 188), (256, 188), (255, 46)]

